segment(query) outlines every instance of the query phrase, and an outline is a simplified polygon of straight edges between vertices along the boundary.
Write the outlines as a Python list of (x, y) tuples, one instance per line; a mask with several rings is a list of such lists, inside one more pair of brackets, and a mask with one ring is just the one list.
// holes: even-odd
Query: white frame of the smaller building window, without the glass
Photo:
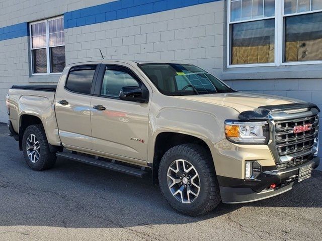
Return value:
[[(49, 21), (51, 20), (56, 20), (56, 19), (63, 19), (64, 16), (59, 16), (59, 17), (54, 17), (54, 18), (50, 18), (50, 19), (43, 19), (43, 20), (39, 20), (36, 22), (32, 22), (29, 23), (29, 41), (30, 41), (30, 63), (31, 63), (31, 75), (60, 75), (62, 72), (55, 72), (55, 73), (51, 73), (50, 72), (50, 53), (49, 53), (49, 48), (52, 47), (61, 47), (61, 46), (65, 46), (65, 42), (62, 45), (55, 45), (55, 46), (49, 46)], [(45, 47), (41, 47), (41, 48), (33, 48), (32, 47), (32, 30), (31, 30), (31, 26), (33, 24), (39, 24), (39, 23), (43, 23), (45, 22), (46, 25), (46, 46)], [(65, 30), (65, 27), (64, 27)], [(47, 60), (47, 73), (34, 73), (33, 71), (33, 58), (32, 58), (32, 51), (35, 49), (46, 49), (46, 60)], [(65, 56), (66, 58), (66, 56)]]

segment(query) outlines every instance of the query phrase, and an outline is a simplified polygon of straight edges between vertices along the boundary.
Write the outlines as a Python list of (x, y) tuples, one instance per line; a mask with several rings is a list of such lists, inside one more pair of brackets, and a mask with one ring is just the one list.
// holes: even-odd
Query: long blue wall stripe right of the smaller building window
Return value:
[(64, 14), (65, 29), (222, 0), (119, 0)]

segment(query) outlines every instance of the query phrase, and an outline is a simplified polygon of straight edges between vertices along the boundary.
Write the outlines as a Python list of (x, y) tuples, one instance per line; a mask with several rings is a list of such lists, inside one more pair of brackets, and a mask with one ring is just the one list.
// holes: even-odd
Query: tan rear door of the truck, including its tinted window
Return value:
[(55, 111), (65, 147), (92, 149), (91, 99), (99, 64), (71, 67), (65, 84), (58, 85)]

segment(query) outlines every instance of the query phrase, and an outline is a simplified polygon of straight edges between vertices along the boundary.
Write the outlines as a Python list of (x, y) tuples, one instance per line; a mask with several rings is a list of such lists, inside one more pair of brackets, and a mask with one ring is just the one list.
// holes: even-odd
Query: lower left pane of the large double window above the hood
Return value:
[(231, 64), (274, 62), (275, 20), (231, 25)]

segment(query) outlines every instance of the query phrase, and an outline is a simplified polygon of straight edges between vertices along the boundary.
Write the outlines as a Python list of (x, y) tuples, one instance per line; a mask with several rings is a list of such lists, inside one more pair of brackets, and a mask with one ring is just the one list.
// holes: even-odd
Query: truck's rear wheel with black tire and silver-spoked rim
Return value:
[(50, 152), (42, 125), (27, 127), (23, 135), (22, 145), (25, 161), (33, 170), (41, 171), (55, 165), (56, 155)]

